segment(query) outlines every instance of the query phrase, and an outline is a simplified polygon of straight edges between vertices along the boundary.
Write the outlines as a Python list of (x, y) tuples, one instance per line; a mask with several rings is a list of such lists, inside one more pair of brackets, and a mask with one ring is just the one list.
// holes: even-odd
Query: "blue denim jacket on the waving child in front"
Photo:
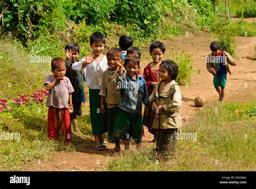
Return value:
[(149, 103), (147, 86), (142, 75), (136, 73), (136, 80), (127, 73), (119, 75), (117, 73), (117, 87), (121, 90), (120, 109), (130, 113), (142, 113), (143, 104)]

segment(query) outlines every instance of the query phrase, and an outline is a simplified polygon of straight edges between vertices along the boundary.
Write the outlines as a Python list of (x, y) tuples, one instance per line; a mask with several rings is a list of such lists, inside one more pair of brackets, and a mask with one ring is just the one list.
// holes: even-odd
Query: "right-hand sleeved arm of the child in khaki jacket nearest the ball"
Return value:
[(173, 95), (172, 95), (172, 100), (169, 104), (164, 104), (163, 105), (163, 110), (165, 112), (176, 112), (180, 109), (181, 107), (181, 92), (179, 89), (178, 85), (174, 85), (174, 89), (173, 89)]

